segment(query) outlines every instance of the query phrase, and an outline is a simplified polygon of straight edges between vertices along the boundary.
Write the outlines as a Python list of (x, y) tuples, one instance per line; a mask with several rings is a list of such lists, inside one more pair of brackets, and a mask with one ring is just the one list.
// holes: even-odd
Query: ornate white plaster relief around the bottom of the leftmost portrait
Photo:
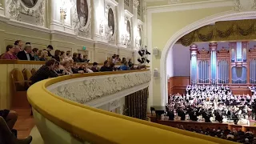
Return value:
[(26, 6), (22, 0), (6, 2), (6, 13), (11, 19), (37, 26), (45, 26), (45, 8), (46, 0), (38, 0), (32, 7)]

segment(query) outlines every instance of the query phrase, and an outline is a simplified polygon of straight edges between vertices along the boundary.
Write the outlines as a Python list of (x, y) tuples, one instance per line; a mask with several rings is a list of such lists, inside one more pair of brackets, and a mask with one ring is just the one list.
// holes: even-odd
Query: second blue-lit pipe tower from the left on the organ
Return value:
[(210, 42), (210, 84), (217, 85), (217, 42)]

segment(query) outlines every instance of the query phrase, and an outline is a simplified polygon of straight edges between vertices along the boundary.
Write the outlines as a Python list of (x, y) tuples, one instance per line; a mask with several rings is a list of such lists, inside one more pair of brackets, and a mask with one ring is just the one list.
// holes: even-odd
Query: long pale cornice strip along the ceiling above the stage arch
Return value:
[(230, 0), (209, 0), (209, 1), (202, 1), (202, 2), (175, 3), (175, 4), (163, 5), (163, 6), (148, 6), (147, 10), (149, 13), (162, 13), (162, 12), (169, 12), (169, 11), (195, 10), (195, 9), (221, 7), (221, 6), (234, 6), (234, 2)]

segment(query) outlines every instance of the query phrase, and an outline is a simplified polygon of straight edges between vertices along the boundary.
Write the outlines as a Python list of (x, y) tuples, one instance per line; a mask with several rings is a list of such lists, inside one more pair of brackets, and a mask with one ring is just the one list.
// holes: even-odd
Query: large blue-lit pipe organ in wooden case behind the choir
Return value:
[(218, 49), (210, 42), (209, 49), (190, 46), (190, 83), (196, 84), (256, 84), (256, 46), (248, 42), (230, 42), (229, 48)]

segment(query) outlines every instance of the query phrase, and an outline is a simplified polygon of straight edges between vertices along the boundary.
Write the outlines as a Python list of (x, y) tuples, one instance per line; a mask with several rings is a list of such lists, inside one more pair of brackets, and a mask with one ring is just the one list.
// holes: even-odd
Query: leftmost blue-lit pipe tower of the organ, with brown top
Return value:
[(198, 46), (196, 44), (190, 46), (190, 54), (190, 83), (191, 85), (196, 85), (198, 80)]

